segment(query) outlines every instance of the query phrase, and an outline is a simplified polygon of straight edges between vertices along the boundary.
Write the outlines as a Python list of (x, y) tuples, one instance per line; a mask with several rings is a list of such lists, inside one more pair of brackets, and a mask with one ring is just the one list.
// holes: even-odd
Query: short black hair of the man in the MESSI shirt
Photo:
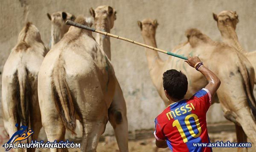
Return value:
[(163, 88), (172, 98), (181, 100), (188, 90), (188, 80), (186, 75), (175, 69), (167, 70), (163, 73)]

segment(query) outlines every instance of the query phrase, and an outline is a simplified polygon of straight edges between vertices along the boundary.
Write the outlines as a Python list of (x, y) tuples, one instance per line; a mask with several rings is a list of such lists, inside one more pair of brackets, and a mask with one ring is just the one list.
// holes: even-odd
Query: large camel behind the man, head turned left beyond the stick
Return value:
[[(145, 44), (157, 47), (155, 40), (157, 20), (145, 19), (142, 22), (138, 21), (138, 25)], [(203, 63), (215, 72), (222, 83), (216, 95), (212, 97), (212, 103), (221, 103), (225, 118), (236, 124), (239, 140), (243, 138), (241, 137), (243, 135), (241, 126), (251, 142), (255, 143), (256, 124), (250, 112), (251, 109), (254, 111), (251, 106), (255, 104), (252, 93), (254, 70), (250, 62), (233, 47), (211, 40), (198, 29), (187, 30), (186, 36), (188, 41), (176, 46), (172, 52), (183, 56), (189, 54), (199, 56)], [(146, 49), (146, 55), (151, 80), (166, 106), (168, 99), (164, 95), (162, 80), (162, 74), (166, 70), (177, 69), (187, 76), (189, 88), (185, 98), (190, 98), (207, 84), (200, 72), (189, 67), (177, 57), (169, 57), (168, 60), (163, 61), (157, 52), (150, 49)], [(216, 64), (216, 62), (221, 63), (221, 65)]]

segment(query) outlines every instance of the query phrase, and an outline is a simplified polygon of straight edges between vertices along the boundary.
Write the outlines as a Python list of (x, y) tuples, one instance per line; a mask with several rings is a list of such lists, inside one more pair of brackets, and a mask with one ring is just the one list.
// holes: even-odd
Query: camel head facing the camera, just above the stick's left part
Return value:
[(111, 6), (98, 6), (95, 10), (90, 8), (96, 29), (112, 29), (116, 20), (116, 11)]

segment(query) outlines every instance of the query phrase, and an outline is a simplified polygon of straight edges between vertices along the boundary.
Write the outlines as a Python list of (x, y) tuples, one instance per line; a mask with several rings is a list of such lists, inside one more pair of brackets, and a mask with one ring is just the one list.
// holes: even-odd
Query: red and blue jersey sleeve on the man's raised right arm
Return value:
[(207, 112), (207, 110), (209, 109), (209, 107), (212, 104), (211, 93), (206, 88), (203, 88), (203, 89), (199, 90), (198, 92), (196, 92), (192, 98), (193, 98), (193, 100), (195, 100), (195, 102), (198, 102), (197, 105), (200, 105), (201, 109), (205, 109), (205, 112)]

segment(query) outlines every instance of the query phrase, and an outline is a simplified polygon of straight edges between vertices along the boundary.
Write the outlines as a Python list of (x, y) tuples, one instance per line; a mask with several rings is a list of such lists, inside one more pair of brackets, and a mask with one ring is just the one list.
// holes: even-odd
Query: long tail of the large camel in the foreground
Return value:
[[(61, 64), (58, 64), (61, 65)], [(65, 69), (63, 65), (57, 66), (53, 71), (52, 94), (55, 100), (55, 106), (66, 127), (76, 135), (76, 118), (73, 99), (70, 89), (65, 79)]]

